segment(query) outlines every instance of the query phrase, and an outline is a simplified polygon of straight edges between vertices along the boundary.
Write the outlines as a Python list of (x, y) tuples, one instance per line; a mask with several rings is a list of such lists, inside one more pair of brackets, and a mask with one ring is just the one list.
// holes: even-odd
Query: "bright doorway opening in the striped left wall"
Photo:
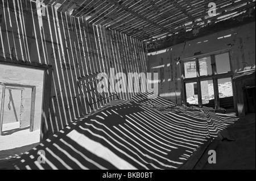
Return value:
[(0, 64), (0, 151), (39, 144), (45, 73)]

